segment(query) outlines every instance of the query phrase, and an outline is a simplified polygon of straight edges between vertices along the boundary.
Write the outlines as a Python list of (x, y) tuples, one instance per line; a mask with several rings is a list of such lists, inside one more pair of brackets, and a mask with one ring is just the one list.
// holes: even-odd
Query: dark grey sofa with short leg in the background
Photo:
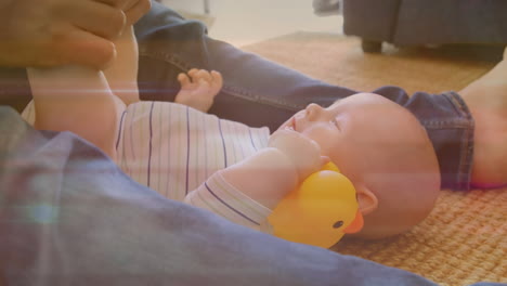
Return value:
[(343, 0), (343, 31), (363, 50), (396, 46), (507, 44), (507, 0)]

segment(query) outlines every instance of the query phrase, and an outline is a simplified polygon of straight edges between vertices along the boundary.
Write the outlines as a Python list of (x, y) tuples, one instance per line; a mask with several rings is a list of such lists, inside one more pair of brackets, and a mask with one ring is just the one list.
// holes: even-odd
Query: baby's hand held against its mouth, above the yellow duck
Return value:
[(328, 157), (321, 156), (321, 146), (315, 141), (290, 129), (274, 132), (268, 146), (277, 148), (292, 161), (299, 182), (329, 161)]

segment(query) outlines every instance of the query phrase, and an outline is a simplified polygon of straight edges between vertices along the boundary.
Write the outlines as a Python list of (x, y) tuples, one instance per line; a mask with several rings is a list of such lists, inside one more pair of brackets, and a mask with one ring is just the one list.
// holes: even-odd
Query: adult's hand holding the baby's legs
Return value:
[(0, 66), (103, 69), (115, 57), (110, 40), (150, 5), (150, 0), (0, 0)]

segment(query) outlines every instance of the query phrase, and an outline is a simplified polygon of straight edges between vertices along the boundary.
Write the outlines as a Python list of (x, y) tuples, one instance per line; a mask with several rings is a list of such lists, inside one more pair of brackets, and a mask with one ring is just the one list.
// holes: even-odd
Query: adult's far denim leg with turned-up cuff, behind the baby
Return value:
[[(312, 79), (207, 36), (206, 27), (182, 18), (162, 4), (136, 25), (140, 44), (140, 94), (143, 100), (173, 101), (177, 75), (190, 68), (222, 73), (224, 87), (210, 109), (219, 117), (275, 130), (309, 103), (327, 106), (358, 91)], [(422, 79), (424, 80), (424, 79)], [(442, 186), (467, 190), (473, 151), (473, 119), (455, 92), (408, 96), (396, 87), (373, 92), (411, 110), (428, 131), (442, 173)]]

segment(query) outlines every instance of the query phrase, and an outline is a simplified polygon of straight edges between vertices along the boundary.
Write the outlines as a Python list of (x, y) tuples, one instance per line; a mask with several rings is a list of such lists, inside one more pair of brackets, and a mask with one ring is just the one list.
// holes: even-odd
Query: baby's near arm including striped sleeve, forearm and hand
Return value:
[(259, 229), (271, 209), (324, 162), (315, 142), (294, 131), (277, 131), (268, 148), (212, 174), (185, 203)]

